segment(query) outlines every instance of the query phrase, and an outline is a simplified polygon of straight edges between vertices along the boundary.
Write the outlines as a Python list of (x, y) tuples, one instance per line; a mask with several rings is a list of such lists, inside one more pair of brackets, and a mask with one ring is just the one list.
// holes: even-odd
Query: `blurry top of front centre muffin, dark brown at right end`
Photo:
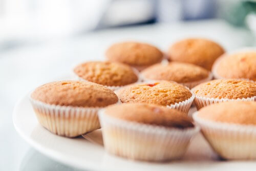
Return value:
[(126, 121), (178, 129), (194, 126), (191, 119), (184, 113), (155, 104), (122, 103), (110, 105), (105, 109), (104, 114)]

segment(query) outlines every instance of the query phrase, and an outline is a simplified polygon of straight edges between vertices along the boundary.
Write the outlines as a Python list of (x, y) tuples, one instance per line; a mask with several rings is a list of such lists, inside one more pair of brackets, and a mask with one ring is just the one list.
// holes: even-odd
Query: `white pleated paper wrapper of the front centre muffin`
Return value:
[(99, 112), (104, 148), (107, 152), (133, 160), (180, 159), (199, 127), (179, 130), (117, 119)]

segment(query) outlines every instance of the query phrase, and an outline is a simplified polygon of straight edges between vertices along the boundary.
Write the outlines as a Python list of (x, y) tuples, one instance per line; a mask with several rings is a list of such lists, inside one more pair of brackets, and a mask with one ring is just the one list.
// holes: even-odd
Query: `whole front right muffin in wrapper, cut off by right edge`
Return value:
[(193, 118), (221, 158), (256, 159), (256, 102), (212, 104), (199, 110)]

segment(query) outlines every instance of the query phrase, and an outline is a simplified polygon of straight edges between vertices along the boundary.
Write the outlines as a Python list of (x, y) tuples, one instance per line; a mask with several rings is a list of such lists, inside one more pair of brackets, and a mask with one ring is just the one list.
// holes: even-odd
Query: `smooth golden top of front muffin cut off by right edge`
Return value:
[(228, 101), (208, 105), (198, 111), (198, 117), (216, 122), (256, 124), (256, 102)]

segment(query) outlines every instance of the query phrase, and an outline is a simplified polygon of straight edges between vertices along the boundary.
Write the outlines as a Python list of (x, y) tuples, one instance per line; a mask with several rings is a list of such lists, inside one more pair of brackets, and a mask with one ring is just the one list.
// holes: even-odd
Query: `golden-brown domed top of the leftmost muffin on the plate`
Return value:
[(103, 107), (118, 102), (110, 89), (87, 81), (50, 82), (36, 88), (31, 98), (47, 104), (79, 107)]

